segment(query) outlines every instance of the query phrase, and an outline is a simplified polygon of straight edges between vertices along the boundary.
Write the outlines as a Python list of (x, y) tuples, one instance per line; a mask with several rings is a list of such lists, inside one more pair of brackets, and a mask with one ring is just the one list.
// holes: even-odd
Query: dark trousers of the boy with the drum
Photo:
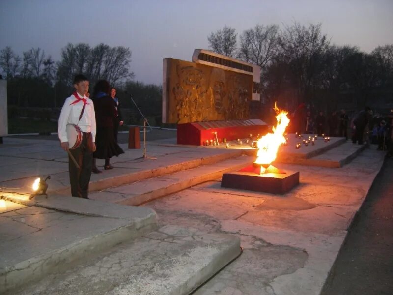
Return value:
[(79, 164), (79, 169), (68, 156), (68, 171), (70, 173), (71, 194), (74, 197), (87, 198), (93, 162), (90, 144), (91, 133), (83, 132), (82, 143), (78, 148), (70, 149), (71, 154)]

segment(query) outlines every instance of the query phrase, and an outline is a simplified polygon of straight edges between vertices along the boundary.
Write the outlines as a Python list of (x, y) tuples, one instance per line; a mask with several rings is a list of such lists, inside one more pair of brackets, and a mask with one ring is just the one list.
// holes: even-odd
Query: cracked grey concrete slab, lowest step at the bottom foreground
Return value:
[(240, 239), (165, 226), (15, 295), (187, 295), (241, 254)]

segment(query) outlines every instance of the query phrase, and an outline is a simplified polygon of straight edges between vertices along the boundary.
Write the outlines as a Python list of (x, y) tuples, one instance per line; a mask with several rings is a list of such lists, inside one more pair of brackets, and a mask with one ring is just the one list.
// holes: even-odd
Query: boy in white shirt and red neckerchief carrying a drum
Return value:
[[(79, 165), (74, 164), (68, 156), (68, 170), (70, 174), (71, 194), (74, 197), (88, 199), (88, 187), (91, 177), (93, 151), (95, 151), (96, 123), (93, 101), (86, 96), (89, 81), (84, 75), (74, 78), (75, 92), (68, 97), (58, 119), (58, 137), (61, 148), (70, 151)], [(82, 141), (79, 147), (69, 149), (66, 127), (68, 124), (78, 125), (82, 130)]]

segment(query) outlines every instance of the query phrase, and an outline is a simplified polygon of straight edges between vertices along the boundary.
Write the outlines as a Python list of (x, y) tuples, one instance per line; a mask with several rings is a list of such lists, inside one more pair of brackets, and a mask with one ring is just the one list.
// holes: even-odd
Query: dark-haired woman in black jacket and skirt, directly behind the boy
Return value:
[(116, 118), (116, 103), (109, 95), (110, 85), (106, 80), (100, 80), (94, 87), (93, 103), (97, 124), (95, 139), (96, 151), (93, 153), (93, 172), (101, 173), (95, 165), (95, 159), (105, 159), (104, 169), (113, 169), (110, 158), (124, 153), (114, 138), (113, 122)]

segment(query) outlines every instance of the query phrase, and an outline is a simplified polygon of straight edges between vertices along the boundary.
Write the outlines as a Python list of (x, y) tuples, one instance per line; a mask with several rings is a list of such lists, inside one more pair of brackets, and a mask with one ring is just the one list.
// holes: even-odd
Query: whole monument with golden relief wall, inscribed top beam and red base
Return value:
[(249, 119), (250, 101), (260, 100), (259, 66), (204, 49), (196, 49), (192, 60), (163, 60), (163, 123), (177, 124), (178, 144), (267, 130), (263, 121)]

